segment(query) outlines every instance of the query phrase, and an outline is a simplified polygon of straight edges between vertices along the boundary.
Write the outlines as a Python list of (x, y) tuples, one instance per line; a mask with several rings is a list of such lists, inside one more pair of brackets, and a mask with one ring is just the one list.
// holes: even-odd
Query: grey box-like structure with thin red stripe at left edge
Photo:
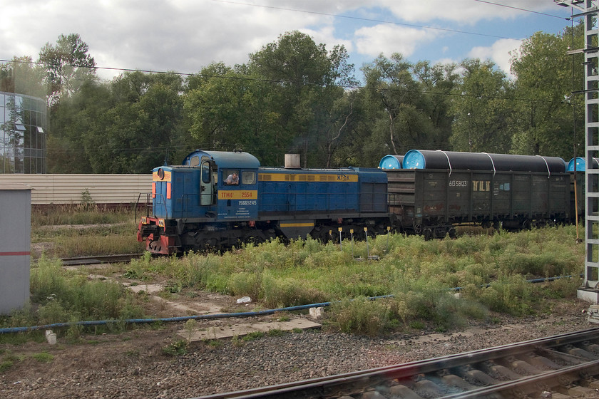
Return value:
[(29, 301), (31, 189), (0, 185), (0, 314)]

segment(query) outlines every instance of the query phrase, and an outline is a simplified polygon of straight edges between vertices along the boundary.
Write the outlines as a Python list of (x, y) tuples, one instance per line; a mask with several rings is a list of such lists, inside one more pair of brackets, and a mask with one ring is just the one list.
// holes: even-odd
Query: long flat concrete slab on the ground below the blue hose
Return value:
[[(201, 321), (200, 321), (201, 323)], [(199, 324), (201, 326), (201, 324)], [(292, 331), (295, 328), (307, 330), (309, 328), (318, 328), (321, 325), (305, 318), (294, 318), (290, 321), (270, 321), (265, 323), (236, 323), (230, 326), (214, 326), (205, 329), (198, 329), (191, 334), (182, 329), (177, 331), (177, 335), (187, 339), (190, 342), (203, 341), (210, 339), (232, 338), (234, 336), (247, 336), (247, 334), (260, 332), (268, 333), (272, 330)]]

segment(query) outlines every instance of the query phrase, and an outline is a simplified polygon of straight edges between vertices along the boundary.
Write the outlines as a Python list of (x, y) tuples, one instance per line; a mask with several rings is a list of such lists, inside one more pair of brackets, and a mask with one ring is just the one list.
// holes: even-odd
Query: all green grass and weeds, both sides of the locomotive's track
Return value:
[[(91, 220), (101, 219), (95, 209), (81, 214), (86, 212)], [(35, 215), (41, 220), (34, 222), (33, 239), (53, 242), (65, 257), (138, 252), (130, 214), (111, 215), (115, 219), (110, 224), (96, 227), (43, 227), (49, 221), (71, 222), (75, 218), (68, 213)], [(342, 249), (314, 239), (289, 244), (274, 240), (224, 254), (154, 258), (146, 253), (130, 264), (113, 266), (111, 272), (144, 282), (166, 280), (168, 289), (162, 294), (173, 297), (193, 296), (203, 289), (250, 296), (270, 309), (331, 301), (334, 306), (327, 311), (325, 324), (337, 331), (367, 335), (398, 329), (446, 331), (466, 326), (471, 318), (488, 319), (489, 311), (536, 314), (548, 299), (575, 296), (584, 264), (584, 246), (575, 237), (575, 227), (559, 226), (430, 242), (385, 234), (369, 238), (368, 247), (365, 242), (343, 242)], [(355, 259), (367, 254), (379, 261)], [(574, 277), (526, 283), (526, 279), (566, 275)], [(449, 291), (454, 287), (460, 289), (459, 298)], [(31, 324), (31, 318), (37, 322), (126, 318), (140, 312), (135, 298), (118, 284), (86, 281), (46, 257), (32, 268), (31, 292), (39, 311), (14, 314), (4, 319), (4, 325)], [(391, 297), (368, 299), (386, 295)]]

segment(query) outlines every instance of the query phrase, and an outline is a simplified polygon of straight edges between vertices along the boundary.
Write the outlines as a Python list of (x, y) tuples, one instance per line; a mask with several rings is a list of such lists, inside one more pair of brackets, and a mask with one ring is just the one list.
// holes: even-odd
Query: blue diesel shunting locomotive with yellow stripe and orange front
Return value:
[[(387, 175), (374, 168), (260, 167), (247, 152), (196, 150), (153, 170), (153, 214), (138, 240), (154, 254), (311, 236), (385, 232)], [(362, 233), (363, 234), (363, 233)]]

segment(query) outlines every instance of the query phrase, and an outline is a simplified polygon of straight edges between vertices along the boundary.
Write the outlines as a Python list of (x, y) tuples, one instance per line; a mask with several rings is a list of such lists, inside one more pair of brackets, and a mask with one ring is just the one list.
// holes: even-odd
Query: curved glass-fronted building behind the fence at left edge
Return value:
[(46, 173), (46, 101), (0, 92), (0, 173)]

